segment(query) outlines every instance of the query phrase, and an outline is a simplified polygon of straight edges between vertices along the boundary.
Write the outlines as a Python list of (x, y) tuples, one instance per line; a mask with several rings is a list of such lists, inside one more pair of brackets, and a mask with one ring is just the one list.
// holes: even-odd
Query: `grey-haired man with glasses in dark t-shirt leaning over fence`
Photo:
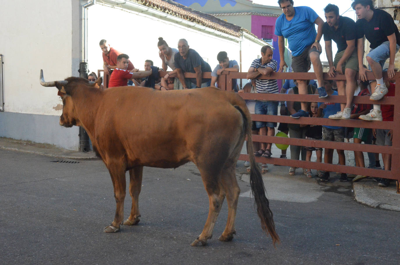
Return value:
[[(178, 78), (184, 89), (210, 86), (210, 78), (202, 78), (203, 72), (211, 72), (210, 65), (193, 49), (189, 48), (188, 41), (178, 41), (178, 52), (175, 54), (175, 67)], [(196, 78), (186, 78), (184, 73), (195, 73)]]

